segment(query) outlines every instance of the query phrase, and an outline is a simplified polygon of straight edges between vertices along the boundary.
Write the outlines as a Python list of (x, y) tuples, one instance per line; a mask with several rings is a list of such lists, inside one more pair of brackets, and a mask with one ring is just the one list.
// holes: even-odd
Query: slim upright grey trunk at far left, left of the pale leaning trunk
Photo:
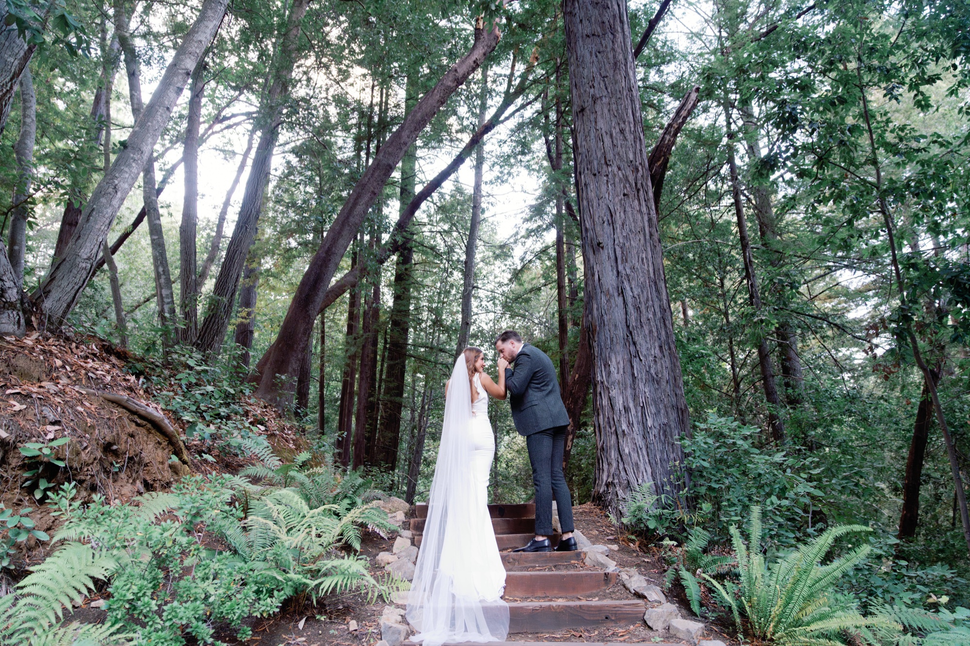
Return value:
[(34, 139), (37, 135), (37, 96), (30, 68), (20, 75), (20, 134), (14, 144), (14, 158), (18, 177), (14, 188), (14, 210), (11, 212), (10, 234), (7, 238), (7, 255), (16, 276), (16, 286), (23, 286), (23, 256), (27, 245), (27, 200), (30, 182), (34, 176)]

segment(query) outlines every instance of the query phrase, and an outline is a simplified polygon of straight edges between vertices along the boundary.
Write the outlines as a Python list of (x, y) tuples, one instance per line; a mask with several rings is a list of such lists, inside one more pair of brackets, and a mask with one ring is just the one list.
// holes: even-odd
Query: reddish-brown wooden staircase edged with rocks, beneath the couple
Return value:
[[(414, 544), (421, 545), (428, 505), (418, 504), (410, 520)], [(585, 552), (510, 552), (529, 542), (535, 532), (535, 505), (490, 504), (492, 527), (507, 572), (504, 598), (508, 600), (509, 632), (559, 632), (566, 629), (622, 629), (643, 621), (642, 600), (598, 600), (596, 596), (617, 582), (616, 572), (591, 570)], [(552, 537), (559, 543), (559, 534)], [(505, 642), (506, 645), (542, 642)], [(565, 646), (566, 642), (556, 642)], [(404, 642), (404, 646), (415, 646)], [(469, 642), (463, 646), (474, 646)], [(619, 646), (619, 645), (618, 645)]]

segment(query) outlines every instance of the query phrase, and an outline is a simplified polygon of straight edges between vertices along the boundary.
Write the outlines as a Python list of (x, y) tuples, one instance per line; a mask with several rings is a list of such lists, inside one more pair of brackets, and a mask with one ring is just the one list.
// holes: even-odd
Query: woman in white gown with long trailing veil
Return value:
[(488, 480), (495, 438), (488, 396), (505, 399), (504, 360), (499, 383), (485, 373), (485, 357), (466, 348), (445, 385), (444, 421), (428, 518), (407, 597), (412, 641), (504, 641), (508, 633), (505, 568), (488, 511)]

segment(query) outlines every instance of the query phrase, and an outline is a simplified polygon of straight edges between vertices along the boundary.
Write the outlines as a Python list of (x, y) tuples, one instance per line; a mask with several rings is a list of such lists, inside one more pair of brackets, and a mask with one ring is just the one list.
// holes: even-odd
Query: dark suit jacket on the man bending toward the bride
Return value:
[(515, 370), (505, 369), (505, 389), (515, 429), (522, 436), (567, 426), (569, 415), (559, 393), (556, 368), (545, 352), (526, 343), (515, 356)]

